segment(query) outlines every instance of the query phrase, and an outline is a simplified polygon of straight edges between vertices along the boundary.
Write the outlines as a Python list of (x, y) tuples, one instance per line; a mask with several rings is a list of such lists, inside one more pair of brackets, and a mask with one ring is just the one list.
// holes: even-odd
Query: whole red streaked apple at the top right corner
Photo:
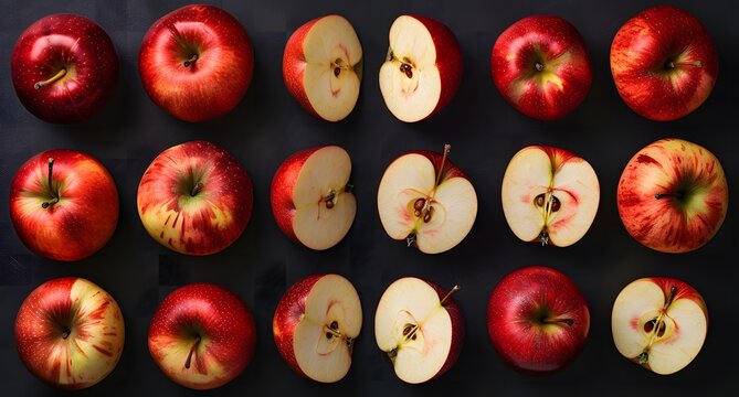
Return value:
[(615, 34), (611, 73), (630, 108), (647, 119), (669, 121), (708, 98), (718, 55), (700, 21), (685, 10), (658, 6), (640, 12)]

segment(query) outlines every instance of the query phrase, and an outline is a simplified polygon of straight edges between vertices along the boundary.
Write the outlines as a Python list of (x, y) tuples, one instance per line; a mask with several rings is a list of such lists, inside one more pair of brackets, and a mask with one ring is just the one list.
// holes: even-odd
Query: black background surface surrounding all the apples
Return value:
[[(720, 66), (717, 85), (697, 111), (673, 122), (653, 122), (629, 109), (617, 96), (609, 68), (609, 49), (617, 29), (653, 1), (214, 1), (246, 28), (256, 66), (244, 100), (228, 116), (204, 124), (179, 121), (146, 96), (138, 75), (138, 50), (151, 23), (184, 1), (0, 0), (0, 372), (2, 395), (56, 394), (36, 380), (15, 352), (13, 323), (28, 293), (55, 277), (93, 280), (118, 301), (126, 321), (126, 345), (116, 369), (82, 394), (194, 394), (167, 379), (147, 351), (147, 330), (158, 302), (176, 287), (215, 282), (235, 291), (255, 313), (257, 348), (247, 369), (217, 389), (223, 395), (726, 395), (739, 373), (735, 314), (739, 217), (729, 207), (726, 222), (704, 248), (666, 255), (641, 246), (617, 215), (615, 190), (629, 159), (647, 143), (678, 137), (711, 150), (726, 170), (729, 195), (737, 194), (739, 148), (736, 135), (736, 74), (739, 58), (736, 23), (739, 3), (673, 1), (708, 28)], [(104, 111), (89, 122), (57, 126), (40, 121), (18, 101), (10, 77), (10, 54), (20, 33), (54, 12), (75, 12), (97, 21), (110, 35), (122, 63), (122, 83)], [(282, 81), (282, 54), (289, 34), (309, 19), (344, 14), (355, 26), (365, 52), (365, 79), (353, 112), (329, 124), (305, 112)], [(465, 74), (455, 98), (441, 114), (403, 124), (386, 108), (378, 71), (388, 31), (402, 13), (420, 13), (446, 23), (456, 34)], [(593, 62), (593, 86), (584, 103), (560, 121), (536, 121), (517, 112), (490, 79), (489, 53), (497, 35), (520, 18), (553, 13), (574, 24)], [(159, 246), (141, 226), (136, 211), (138, 181), (162, 150), (193, 139), (211, 140), (232, 151), (254, 182), (254, 212), (246, 232), (225, 251), (187, 257)], [(456, 248), (436, 256), (390, 239), (377, 214), (376, 194), (386, 167), (414, 149), (441, 151), (452, 144), (452, 160), (477, 190), (475, 226)], [(272, 176), (291, 153), (318, 144), (340, 144), (350, 153), (358, 212), (347, 238), (326, 251), (312, 251), (288, 240), (270, 208)], [(601, 202), (590, 232), (568, 248), (540, 247), (518, 240), (500, 208), (500, 181), (510, 158), (527, 144), (562, 147), (581, 154), (595, 169)], [(120, 221), (109, 244), (91, 258), (54, 262), (25, 249), (8, 216), (12, 175), (31, 155), (71, 148), (97, 157), (112, 172), (120, 195)], [(531, 377), (508, 368), (496, 355), (485, 324), (488, 296), (508, 272), (527, 265), (552, 266), (570, 276), (589, 302), (590, 336), (579, 358), (566, 369)], [(272, 339), (272, 315), (287, 287), (315, 272), (339, 272), (360, 293), (365, 322), (351, 371), (341, 382), (321, 385), (294, 374)], [(467, 337), (457, 364), (424, 385), (405, 385), (374, 343), (373, 316), (384, 288), (402, 276), (426, 277), (462, 286), (456, 294), (466, 319)], [(623, 358), (613, 345), (611, 308), (619, 291), (646, 276), (688, 281), (703, 293), (710, 324), (697, 358), (672, 376), (657, 376)]]

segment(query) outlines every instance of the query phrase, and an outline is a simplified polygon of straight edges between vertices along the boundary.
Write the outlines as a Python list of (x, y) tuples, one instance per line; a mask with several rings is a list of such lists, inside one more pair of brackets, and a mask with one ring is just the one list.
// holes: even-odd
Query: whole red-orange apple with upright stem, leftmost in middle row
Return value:
[[(49, 187), (49, 160), (53, 159)], [(54, 196), (59, 197), (56, 203)], [(10, 219), (21, 242), (44, 258), (75, 261), (98, 251), (118, 223), (118, 191), (105, 167), (66, 149), (29, 159), (10, 184)]]

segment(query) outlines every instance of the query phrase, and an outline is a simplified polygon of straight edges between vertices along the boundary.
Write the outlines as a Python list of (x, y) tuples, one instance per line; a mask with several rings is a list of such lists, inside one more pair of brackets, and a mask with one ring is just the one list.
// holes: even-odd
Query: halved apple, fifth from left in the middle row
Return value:
[(580, 240), (593, 223), (600, 185), (593, 168), (579, 155), (529, 146), (508, 163), (500, 196), (516, 237), (567, 247)]

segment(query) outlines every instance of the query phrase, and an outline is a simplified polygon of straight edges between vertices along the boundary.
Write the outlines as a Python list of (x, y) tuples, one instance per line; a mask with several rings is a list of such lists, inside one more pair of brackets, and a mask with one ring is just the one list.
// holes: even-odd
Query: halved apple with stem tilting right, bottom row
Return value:
[(401, 380), (431, 380), (456, 362), (464, 342), (462, 311), (451, 297), (457, 290), (407, 277), (382, 293), (374, 313), (374, 337)]

